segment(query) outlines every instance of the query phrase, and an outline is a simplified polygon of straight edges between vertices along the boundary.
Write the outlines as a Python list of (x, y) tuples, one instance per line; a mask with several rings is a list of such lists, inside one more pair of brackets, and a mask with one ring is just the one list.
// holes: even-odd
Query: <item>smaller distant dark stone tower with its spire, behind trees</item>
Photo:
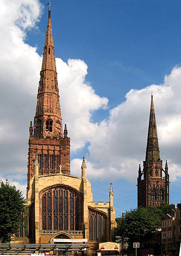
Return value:
[(161, 203), (169, 203), (168, 164), (166, 161), (164, 170), (162, 160), (160, 160), (153, 96), (151, 95), (146, 157), (143, 170), (139, 165), (138, 171), (138, 207), (159, 206)]

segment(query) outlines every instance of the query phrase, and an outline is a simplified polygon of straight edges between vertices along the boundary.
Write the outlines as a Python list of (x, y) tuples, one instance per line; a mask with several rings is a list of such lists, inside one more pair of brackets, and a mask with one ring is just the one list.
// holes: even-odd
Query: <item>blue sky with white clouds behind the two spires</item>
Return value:
[[(47, 2), (17, 0), (15, 6), (2, 1), (0, 142), (5, 153), (0, 176), (21, 189), (26, 186), (28, 126), (35, 113)], [(72, 174), (80, 176), (85, 155), (94, 200), (108, 201), (113, 183), (116, 217), (137, 205), (136, 177), (145, 159), (151, 91), (160, 156), (163, 167), (168, 160), (170, 168), (170, 203), (181, 199), (180, 14), (181, 1), (176, 0), (51, 3)]]

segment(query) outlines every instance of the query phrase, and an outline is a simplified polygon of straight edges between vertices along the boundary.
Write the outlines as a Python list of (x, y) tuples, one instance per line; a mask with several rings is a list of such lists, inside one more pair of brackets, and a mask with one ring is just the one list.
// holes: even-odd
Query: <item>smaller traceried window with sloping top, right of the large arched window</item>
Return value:
[(89, 241), (106, 241), (107, 216), (103, 212), (89, 209)]

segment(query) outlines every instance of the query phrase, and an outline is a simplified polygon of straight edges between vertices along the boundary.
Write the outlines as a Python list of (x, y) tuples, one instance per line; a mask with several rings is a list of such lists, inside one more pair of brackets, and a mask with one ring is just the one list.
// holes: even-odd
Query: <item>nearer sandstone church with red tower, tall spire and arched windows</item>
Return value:
[(42, 69), (34, 123), (30, 122), (27, 203), (30, 243), (54, 243), (57, 238), (111, 241), (116, 227), (113, 189), (109, 202), (93, 202), (83, 157), (81, 177), (71, 175), (68, 128), (62, 126), (56, 60), (48, 9)]

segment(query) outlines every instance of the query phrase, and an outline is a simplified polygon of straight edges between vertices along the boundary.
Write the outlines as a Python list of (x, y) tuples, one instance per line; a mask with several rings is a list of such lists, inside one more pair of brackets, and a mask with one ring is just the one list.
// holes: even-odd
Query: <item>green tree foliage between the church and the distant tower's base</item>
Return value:
[(133, 242), (148, 241), (152, 232), (159, 228), (161, 219), (174, 209), (174, 205), (163, 203), (160, 206), (139, 207), (127, 211), (122, 218), (116, 218), (118, 227), (115, 235), (128, 238), (130, 245)]

